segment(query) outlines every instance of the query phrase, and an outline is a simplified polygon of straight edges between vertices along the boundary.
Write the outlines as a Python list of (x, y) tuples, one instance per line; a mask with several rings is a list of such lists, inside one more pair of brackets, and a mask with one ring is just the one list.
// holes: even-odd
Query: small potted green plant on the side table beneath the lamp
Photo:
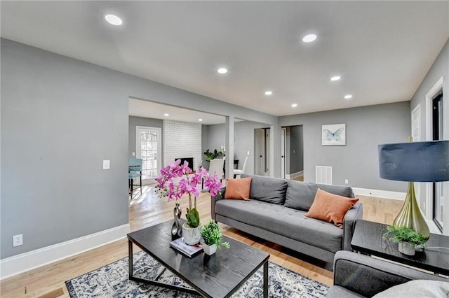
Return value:
[(409, 227), (393, 227), (390, 225), (383, 237), (398, 243), (399, 252), (404, 255), (415, 255), (416, 248), (424, 248), (427, 243), (427, 237), (424, 234), (415, 232)]

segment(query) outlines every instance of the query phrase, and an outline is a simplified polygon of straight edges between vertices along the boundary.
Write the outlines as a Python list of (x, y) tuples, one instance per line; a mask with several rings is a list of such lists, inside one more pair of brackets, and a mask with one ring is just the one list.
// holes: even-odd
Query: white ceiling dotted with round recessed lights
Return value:
[(449, 1), (1, 1), (1, 36), (292, 115), (410, 100), (448, 41)]

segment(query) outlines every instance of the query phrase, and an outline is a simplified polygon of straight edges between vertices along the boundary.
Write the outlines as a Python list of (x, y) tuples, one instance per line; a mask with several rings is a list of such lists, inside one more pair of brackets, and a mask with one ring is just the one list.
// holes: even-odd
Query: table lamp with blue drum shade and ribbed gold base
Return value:
[(429, 227), (415, 197), (413, 182), (449, 180), (449, 141), (378, 145), (380, 178), (408, 181), (406, 201), (393, 222), (429, 237)]

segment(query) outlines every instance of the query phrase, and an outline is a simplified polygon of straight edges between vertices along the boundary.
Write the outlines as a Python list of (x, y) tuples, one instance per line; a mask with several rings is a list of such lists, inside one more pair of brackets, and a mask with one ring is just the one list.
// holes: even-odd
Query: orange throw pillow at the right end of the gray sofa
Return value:
[(357, 201), (358, 199), (342, 197), (318, 189), (314, 202), (311, 204), (309, 212), (305, 215), (308, 218), (333, 222), (334, 225), (343, 229), (344, 215)]

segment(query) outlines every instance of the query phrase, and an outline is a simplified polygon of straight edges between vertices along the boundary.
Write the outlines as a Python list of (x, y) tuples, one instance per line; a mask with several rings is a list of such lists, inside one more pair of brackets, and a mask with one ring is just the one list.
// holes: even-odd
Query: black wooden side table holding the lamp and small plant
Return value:
[(449, 276), (449, 237), (430, 234), (427, 241), (428, 249), (414, 256), (399, 253), (398, 243), (382, 238), (387, 232), (387, 225), (367, 220), (356, 220), (354, 235), (352, 236), (351, 247), (360, 253), (375, 255), (387, 260), (392, 260), (412, 267), (443, 274)]

